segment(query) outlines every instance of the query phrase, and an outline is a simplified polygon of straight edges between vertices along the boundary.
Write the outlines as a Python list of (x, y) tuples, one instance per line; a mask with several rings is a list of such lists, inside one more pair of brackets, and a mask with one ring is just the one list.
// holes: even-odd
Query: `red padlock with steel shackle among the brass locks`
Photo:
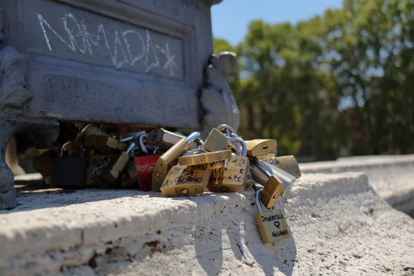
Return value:
[[(139, 189), (147, 192), (152, 190), (152, 172), (154, 171), (155, 163), (157, 163), (157, 160), (161, 155), (149, 154), (150, 152), (148, 152), (148, 149), (144, 144), (144, 137), (146, 137), (146, 135), (141, 135), (139, 137), (139, 148), (141, 148), (146, 155), (135, 157), (135, 172), (137, 173)], [(156, 150), (157, 149), (155, 149), (154, 152), (156, 152)]]

